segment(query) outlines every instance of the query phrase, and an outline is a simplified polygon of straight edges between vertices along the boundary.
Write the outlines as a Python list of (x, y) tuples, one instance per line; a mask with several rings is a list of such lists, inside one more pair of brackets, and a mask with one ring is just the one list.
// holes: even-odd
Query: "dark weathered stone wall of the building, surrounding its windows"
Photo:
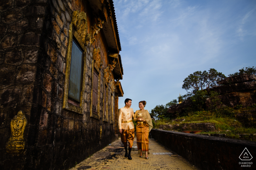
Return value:
[[(83, 114), (63, 109), (69, 25), (76, 10), (87, 13), (88, 27), (94, 24), (89, 3), (4, 0), (0, 10), (0, 167), (69, 169), (114, 141), (115, 125), (102, 120), (106, 59), (100, 77), (100, 119), (90, 117), (93, 50), (101, 47), (102, 58), (108, 52), (102, 32), (86, 47)], [(20, 110), (27, 119), (26, 143), (22, 153), (14, 155), (5, 146), (11, 135), (10, 122)]]

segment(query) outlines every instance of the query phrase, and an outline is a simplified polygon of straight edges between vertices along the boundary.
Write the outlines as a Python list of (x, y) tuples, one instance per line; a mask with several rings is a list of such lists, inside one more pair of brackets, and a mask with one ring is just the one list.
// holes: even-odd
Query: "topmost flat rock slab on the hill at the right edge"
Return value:
[(241, 82), (250, 82), (256, 80), (255, 75), (248, 75), (248, 74), (243, 74), (237, 75), (237, 76), (230, 76), (224, 80), (220, 80), (217, 83), (218, 84), (233, 84), (233, 83), (241, 83)]

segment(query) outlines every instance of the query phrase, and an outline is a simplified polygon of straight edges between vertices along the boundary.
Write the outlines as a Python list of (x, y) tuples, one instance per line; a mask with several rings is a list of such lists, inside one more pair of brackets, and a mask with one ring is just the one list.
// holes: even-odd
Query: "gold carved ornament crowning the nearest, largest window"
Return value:
[(86, 43), (87, 35), (87, 17), (85, 12), (74, 11), (72, 16), (71, 24), (78, 35), (80, 36), (83, 43)]

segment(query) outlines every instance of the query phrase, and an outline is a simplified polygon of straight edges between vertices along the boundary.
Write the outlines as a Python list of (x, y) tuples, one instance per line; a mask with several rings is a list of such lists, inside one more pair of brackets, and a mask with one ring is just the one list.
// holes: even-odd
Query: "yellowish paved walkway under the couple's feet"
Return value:
[(124, 157), (124, 147), (121, 140), (85, 159), (71, 170), (198, 170), (183, 157), (165, 148), (154, 139), (149, 140), (149, 159), (139, 157), (136, 138), (131, 151), (132, 160)]

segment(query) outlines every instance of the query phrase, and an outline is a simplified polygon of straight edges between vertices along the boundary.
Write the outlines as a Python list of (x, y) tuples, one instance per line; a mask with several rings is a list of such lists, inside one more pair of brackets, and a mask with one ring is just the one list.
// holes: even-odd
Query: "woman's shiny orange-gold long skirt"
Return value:
[(136, 126), (138, 150), (141, 149), (142, 151), (148, 151), (148, 133), (149, 126), (147, 122), (143, 122), (143, 124), (138, 122)]

